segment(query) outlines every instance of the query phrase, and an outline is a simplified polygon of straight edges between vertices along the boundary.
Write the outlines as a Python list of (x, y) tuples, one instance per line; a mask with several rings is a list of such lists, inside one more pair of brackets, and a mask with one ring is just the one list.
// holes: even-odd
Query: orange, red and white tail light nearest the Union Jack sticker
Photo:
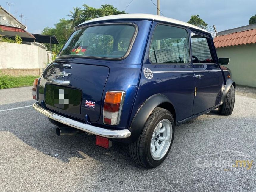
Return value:
[(119, 124), (124, 102), (124, 95), (124, 91), (107, 91), (103, 109), (104, 124)]

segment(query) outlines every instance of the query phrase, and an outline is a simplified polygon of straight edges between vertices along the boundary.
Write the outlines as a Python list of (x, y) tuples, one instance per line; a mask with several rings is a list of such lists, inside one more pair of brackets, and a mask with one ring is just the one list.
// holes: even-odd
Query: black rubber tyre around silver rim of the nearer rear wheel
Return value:
[[(172, 125), (172, 136), (171, 136), (171, 144), (169, 146), (168, 151), (160, 160), (154, 160), (151, 156), (151, 139), (154, 133), (154, 129), (157, 124), (162, 121), (163, 119), (168, 119)], [(174, 138), (174, 119), (171, 113), (163, 108), (156, 107), (152, 114), (149, 116), (146, 124), (144, 125), (143, 131), (140, 137), (134, 143), (130, 143), (128, 145), (129, 154), (132, 159), (138, 163), (139, 165), (146, 167), (146, 168), (154, 168), (159, 166), (165, 158), (167, 157), (171, 145)]]

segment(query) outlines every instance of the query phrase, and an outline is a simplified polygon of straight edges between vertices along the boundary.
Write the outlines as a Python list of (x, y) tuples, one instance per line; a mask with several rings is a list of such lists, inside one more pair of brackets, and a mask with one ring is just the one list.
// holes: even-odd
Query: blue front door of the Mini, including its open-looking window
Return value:
[(220, 103), (223, 76), (214, 56), (213, 40), (207, 35), (191, 33), (191, 53), (195, 78), (193, 114)]

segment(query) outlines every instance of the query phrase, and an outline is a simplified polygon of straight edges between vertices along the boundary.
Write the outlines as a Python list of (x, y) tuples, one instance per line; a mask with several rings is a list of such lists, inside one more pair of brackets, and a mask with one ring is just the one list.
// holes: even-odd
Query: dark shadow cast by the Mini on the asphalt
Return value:
[[(4, 114), (4, 116), (11, 117), (12, 121), (5, 125), (4, 121), (2, 121), (0, 130), (13, 133), (29, 146), (63, 162), (69, 162), (75, 157), (88, 160), (93, 158), (108, 166), (114, 166), (116, 165), (114, 162), (118, 162), (118, 165), (123, 165), (124, 168), (127, 165), (131, 165), (129, 166), (130, 168), (142, 168), (132, 161), (128, 147), (123, 143), (113, 142), (113, 147), (104, 149), (95, 145), (95, 135), (82, 133), (74, 136), (57, 136), (55, 133), (57, 127), (51, 124), (45, 116), (35, 113), (32, 109), (26, 109), (25, 112), (18, 114), (15, 111)], [(217, 115), (214, 110), (207, 114)], [(195, 120), (190, 121), (194, 122)], [(187, 129), (183, 129), (183, 126), (186, 126), (186, 124), (181, 124), (178, 129), (175, 129), (175, 142), (180, 141), (176, 140), (175, 136), (177, 134), (179, 136), (188, 134), (186, 133)], [(176, 145), (179, 145), (179, 143), (176, 143)]]

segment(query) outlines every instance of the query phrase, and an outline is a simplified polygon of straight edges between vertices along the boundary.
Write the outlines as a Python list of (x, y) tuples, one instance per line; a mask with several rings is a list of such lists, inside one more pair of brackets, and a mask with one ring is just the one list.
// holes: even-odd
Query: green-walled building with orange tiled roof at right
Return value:
[(218, 32), (214, 38), (218, 57), (229, 57), (227, 66), (238, 85), (256, 87), (256, 24)]

